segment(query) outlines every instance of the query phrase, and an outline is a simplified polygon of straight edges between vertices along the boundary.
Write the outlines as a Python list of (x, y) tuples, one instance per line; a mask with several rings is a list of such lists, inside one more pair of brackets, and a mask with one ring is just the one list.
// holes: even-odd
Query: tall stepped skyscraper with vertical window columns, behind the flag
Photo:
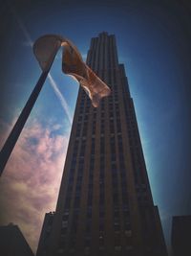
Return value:
[(112, 93), (95, 108), (79, 89), (48, 255), (165, 256), (115, 35), (92, 38), (87, 64)]

